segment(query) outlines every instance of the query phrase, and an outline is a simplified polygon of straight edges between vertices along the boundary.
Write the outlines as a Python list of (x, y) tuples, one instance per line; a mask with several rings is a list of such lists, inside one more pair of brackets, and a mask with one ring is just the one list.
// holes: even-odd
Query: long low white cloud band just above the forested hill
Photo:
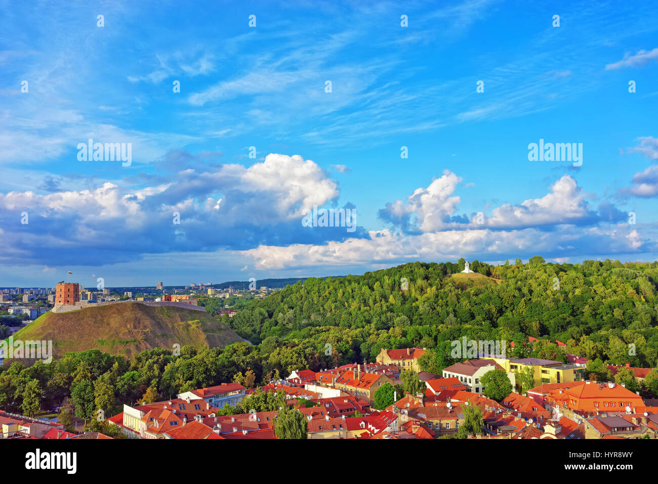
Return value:
[(361, 264), (401, 264), (414, 260), (442, 261), (459, 257), (501, 260), (541, 253), (549, 258), (580, 256), (582, 247), (597, 254), (634, 253), (655, 249), (655, 244), (626, 226), (589, 228), (564, 226), (559, 232), (534, 228), (497, 231), (449, 230), (404, 235), (389, 230), (371, 231), (367, 239), (332, 241), (325, 245), (295, 244), (289, 247), (261, 245), (243, 254), (257, 270), (282, 270)]

